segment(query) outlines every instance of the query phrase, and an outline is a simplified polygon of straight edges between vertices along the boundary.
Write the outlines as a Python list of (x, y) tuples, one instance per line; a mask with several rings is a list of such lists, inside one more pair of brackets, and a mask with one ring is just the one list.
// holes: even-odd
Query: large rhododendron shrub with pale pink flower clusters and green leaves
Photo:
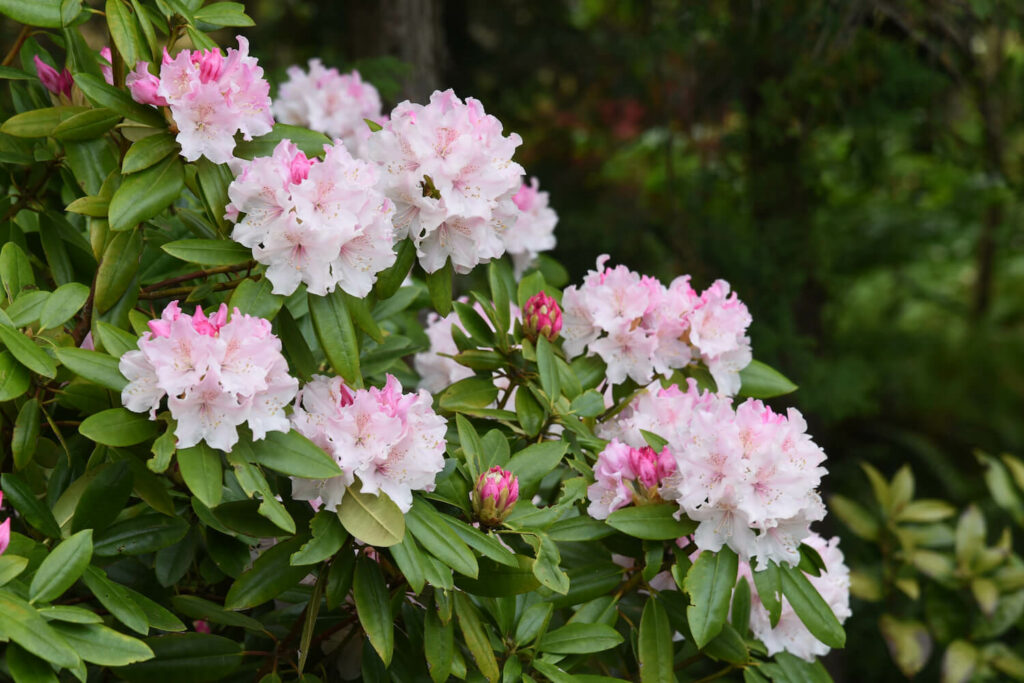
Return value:
[(0, 677), (827, 679), (827, 461), (742, 292), (570, 284), (481, 102), (271, 101), (237, 3), (0, 12)]

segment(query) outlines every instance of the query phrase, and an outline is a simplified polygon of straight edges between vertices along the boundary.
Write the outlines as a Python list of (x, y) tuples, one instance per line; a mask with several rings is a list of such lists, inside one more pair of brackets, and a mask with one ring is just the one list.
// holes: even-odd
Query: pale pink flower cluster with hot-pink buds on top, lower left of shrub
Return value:
[(148, 411), (153, 420), (166, 394), (179, 449), (205, 440), (229, 452), (244, 423), (257, 439), (289, 430), (285, 407), (298, 381), (288, 374), (267, 321), (236, 308), (228, 322), (224, 304), (209, 317), (198, 306), (188, 315), (172, 301), (150, 322), (138, 349), (121, 356), (128, 379), (121, 400), (130, 411)]

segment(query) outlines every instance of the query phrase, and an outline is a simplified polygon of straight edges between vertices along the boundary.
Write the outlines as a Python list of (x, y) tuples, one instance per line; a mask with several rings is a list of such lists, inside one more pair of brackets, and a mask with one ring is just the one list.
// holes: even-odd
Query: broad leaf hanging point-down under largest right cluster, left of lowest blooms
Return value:
[(703, 552), (686, 572), (683, 590), (690, 596), (686, 620), (699, 649), (712, 641), (729, 616), (729, 599), (736, 585), (738, 559), (728, 548)]

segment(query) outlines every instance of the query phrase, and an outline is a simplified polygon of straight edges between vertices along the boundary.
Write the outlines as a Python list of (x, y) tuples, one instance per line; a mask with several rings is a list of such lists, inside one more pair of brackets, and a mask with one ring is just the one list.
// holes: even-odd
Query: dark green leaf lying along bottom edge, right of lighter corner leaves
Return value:
[(147, 638), (153, 659), (117, 670), (133, 683), (213, 683), (242, 666), (242, 644), (205, 633)]

